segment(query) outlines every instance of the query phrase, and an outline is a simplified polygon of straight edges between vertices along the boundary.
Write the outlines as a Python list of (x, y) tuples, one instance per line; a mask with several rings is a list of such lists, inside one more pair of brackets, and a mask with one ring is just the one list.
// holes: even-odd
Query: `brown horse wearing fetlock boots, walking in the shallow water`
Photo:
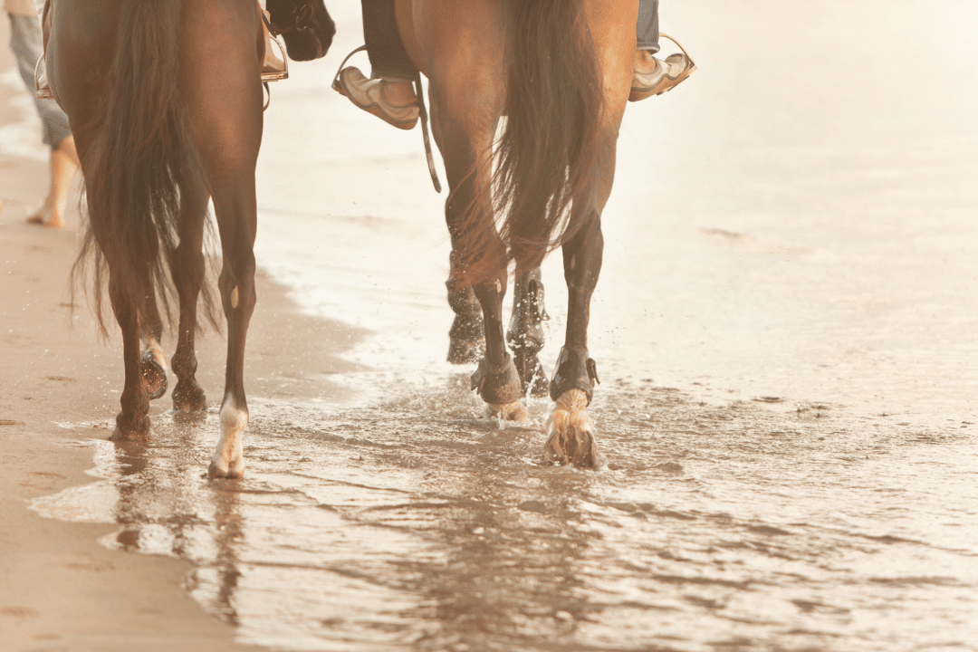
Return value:
[(507, 266), (515, 261), (517, 290), (530, 297), (517, 302), (510, 333), (516, 357), (525, 358), (522, 344), (535, 338), (542, 312), (531, 271), (562, 247), (567, 330), (550, 383), (556, 410), (544, 460), (600, 466), (586, 413), (598, 381), (587, 330), (601, 265), (600, 214), (635, 63), (638, 0), (397, 0), (396, 7), (405, 49), (429, 80), (432, 131), (451, 191), (453, 331), (478, 322), (465, 288), (481, 307), (485, 354), (473, 388), (493, 412), (521, 416), (526, 374), (537, 365), (530, 351), (533, 359), (517, 369), (507, 352)]

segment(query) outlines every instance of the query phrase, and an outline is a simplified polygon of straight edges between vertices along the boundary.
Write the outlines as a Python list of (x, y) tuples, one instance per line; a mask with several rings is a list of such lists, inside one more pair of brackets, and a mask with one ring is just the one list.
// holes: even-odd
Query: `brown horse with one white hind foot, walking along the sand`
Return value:
[[(323, 19), (325, 7), (320, 11)], [(332, 38), (328, 15), (325, 20)], [(266, 47), (257, 3), (48, 0), (44, 27), (48, 80), (67, 112), (87, 193), (87, 234), (75, 270), (84, 266), (86, 252), (94, 254), (97, 307), (107, 281), (122, 331), (125, 386), (116, 436), (146, 436), (150, 400), (165, 391), (159, 308), (170, 312), (167, 276), (179, 304), (173, 407), (188, 413), (204, 409), (194, 337), (212, 198), (223, 256), (219, 287), (228, 359), (222, 432), (209, 474), (241, 477), (248, 419), (244, 339), (255, 304), (254, 170)], [(325, 54), (329, 39), (321, 46)], [(206, 286), (203, 296), (204, 306), (212, 306)], [(99, 317), (101, 322), (101, 310)]]

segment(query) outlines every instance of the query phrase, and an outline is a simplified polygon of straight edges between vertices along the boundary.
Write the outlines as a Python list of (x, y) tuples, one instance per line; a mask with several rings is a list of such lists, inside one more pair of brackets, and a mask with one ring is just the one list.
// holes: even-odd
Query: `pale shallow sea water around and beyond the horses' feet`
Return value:
[(540, 466), (549, 405), (483, 418), (443, 362), (443, 197), (419, 134), (329, 91), (359, 33), (334, 13), (326, 62), (272, 87), (257, 255), (373, 333), (353, 398), (252, 393), (242, 482), (202, 477), (215, 413), (161, 414), (38, 511), (192, 560), (203, 608), (281, 649), (978, 649), (966, 2), (665, 3), (699, 70), (622, 127), (600, 473)]

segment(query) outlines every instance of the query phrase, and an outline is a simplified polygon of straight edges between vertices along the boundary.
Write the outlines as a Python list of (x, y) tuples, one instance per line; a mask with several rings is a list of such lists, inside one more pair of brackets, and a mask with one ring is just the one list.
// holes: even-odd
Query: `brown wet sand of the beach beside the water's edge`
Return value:
[[(8, 39), (4, 18), (0, 72), (12, 70)], [(14, 103), (22, 88), (2, 88), (0, 125), (21, 121)], [(0, 649), (259, 649), (235, 643), (234, 628), (187, 594), (190, 563), (110, 550), (98, 540), (111, 526), (65, 523), (28, 509), (29, 500), (94, 480), (85, 473), (92, 467), (88, 440), (111, 435), (107, 417), (117, 412), (122, 385), (114, 325), (103, 342), (83, 296), (71, 310), (67, 278), (77, 210), (69, 209), (61, 230), (24, 221), (46, 187), (46, 162), (0, 152)], [(265, 275), (259, 274), (257, 291), (249, 384), (265, 396), (341, 396), (323, 372), (351, 367), (334, 355), (355, 340), (355, 331), (298, 315), (284, 288)], [(222, 392), (224, 346), (223, 337), (209, 333), (198, 350), (199, 378), (211, 401)], [(167, 408), (156, 403), (152, 413)], [(92, 427), (79, 432), (63, 427), (67, 422)]]

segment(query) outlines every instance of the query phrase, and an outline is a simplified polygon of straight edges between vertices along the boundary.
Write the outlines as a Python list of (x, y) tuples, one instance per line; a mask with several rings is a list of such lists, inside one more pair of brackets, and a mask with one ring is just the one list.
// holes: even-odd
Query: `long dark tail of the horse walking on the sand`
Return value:
[(167, 272), (179, 241), (180, 196), (193, 181), (197, 161), (177, 85), (180, 5), (180, 0), (120, 3), (101, 118), (82, 161), (88, 219), (72, 277), (94, 258), (95, 308), (103, 334), (107, 280), (113, 296), (135, 310), (143, 312), (147, 301), (156, 300), (171, 317)]

